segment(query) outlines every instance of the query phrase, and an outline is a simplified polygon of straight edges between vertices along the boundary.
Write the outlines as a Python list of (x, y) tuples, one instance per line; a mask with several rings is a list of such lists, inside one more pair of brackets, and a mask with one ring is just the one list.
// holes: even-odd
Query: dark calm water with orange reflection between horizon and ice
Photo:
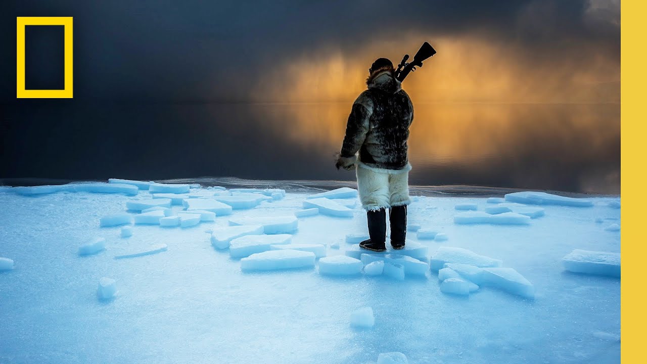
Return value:
[[(415, 104), (411, 185), (620, 192), (620, 106)], [(0, 178), (352, 180), (349, 104), (3, 106)]]

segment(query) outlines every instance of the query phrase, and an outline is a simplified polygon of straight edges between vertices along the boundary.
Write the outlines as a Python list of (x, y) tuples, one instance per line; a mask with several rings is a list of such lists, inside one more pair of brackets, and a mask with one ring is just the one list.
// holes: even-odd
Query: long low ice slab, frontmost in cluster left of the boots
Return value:
[(270, 271), (314, 267), (314, 253), (300, 250), (269, 250), (241, 259), (243, 271)]

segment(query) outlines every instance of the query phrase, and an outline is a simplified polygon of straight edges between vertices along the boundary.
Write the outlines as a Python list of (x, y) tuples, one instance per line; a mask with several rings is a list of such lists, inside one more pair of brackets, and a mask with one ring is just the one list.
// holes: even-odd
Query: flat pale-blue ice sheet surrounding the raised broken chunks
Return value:
[[(98, 222), (134, 216), (126, 212), (132, 196), (0, 192), (0, 256), (15, 262), (0, 272), (0, 363), (375, 364), (391, 352), (413, 364), (619, 362), (620, 280), (569, 273), (562, 261), (574, 249), (620, 252), (620, 234), (604, 231), (620, 223), (620, 210), (609, 207), (617, 198), (590, 198), (586, 209), (542, 205), (545, 216), (531, 225), (454, 224), (457, 203), (483, 207), (485, 198), (419, 196), (411, 203), (410, 223), (451, 238), (439, 244), (410, 233), (407, 243), (427, 246), (429, 256), (442, 245), (501, 260), (532, 282), (534, 301), (491, 285), (468, 299), (447, 295), (435, 271), (397, 281), (369, 277), (364, 267), (334, 277), (320, 275), (316, 260), (301, 269), (243, 271), (226, 249), (210, 245), (206, 231), (227, 227), (229, 218), (292, 216), (308, 196), (288, 192), (188, 229), (134, 225), (124, 239), (121, 226)], [(138, 192), (137, 199), (149, 198)], [(366, 214), (317, 215), (299, 221), (292, 243), (327, 244), (328, 256), (345, 255), (345, 236), (366, 233)], [(78, 256), (93, 236), (105, 238), (106, 250)], [(336, 242), (342, 244), (333, 249)], [(114, 259), (160, 243), (168, 251)], [(116, 281), (109, 301), (97, 299), (102, 277)], [(349, 324), (361, 307), (373, 309), (372, 328)]]

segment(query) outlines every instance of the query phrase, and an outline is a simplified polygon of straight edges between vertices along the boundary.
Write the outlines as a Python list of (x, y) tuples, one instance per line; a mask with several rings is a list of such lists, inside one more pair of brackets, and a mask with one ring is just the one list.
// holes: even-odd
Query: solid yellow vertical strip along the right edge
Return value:
[(647, 71), (645, 19), (647, 3), (623, 0), (620, 17), (620, 189), (622, 192), (622, 280), (620, 282), (620, 331), (622, 363), (647, 363), (644, 343), (647, 331), (644, 290), (645, 218), (647, 193)]

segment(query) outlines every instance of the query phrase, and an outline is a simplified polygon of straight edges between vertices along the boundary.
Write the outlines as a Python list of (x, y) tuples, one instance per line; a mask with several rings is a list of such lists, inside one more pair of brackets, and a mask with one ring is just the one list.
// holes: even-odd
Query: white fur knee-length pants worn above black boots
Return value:
[(388, 209), (409, 205), (409, 170), (384, 170), (362, 163), (356, 166), (357, 187), (362, 207), (366, 210)]

